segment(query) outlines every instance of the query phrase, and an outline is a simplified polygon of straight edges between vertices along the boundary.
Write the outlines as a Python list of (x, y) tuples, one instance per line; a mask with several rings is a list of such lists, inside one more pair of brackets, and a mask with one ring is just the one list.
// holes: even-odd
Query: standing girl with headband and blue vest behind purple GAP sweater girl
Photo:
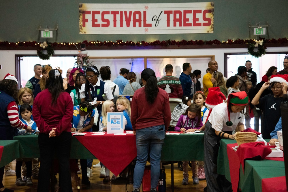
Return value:
[[(201, 108), (201, 120), (203, 123), (203, 127), (199, 130), (205, 129), (206, 119), (209, 114), (209, 109), (205, 106), (206, 95), (202, 91), (197, 91), (193, 95), (193, 101)], [(205, 180), (205, 171), (204, 171), (204, 161), (198, 161), (198, 178), (199, 180)]]

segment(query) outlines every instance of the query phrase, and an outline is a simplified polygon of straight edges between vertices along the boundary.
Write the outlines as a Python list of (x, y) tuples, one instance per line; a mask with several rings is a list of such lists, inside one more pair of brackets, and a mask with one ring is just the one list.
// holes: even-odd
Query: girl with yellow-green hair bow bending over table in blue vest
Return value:
[[(78, 106), (74, 106), (72, 119), (73, 128), (71, 128), (71, 132), (91, 132), (94, 122), (94, 116), (95, 110), (88, 101), (80, 102)], [(88, 178), (93, 175), (91, 169), (92, 162), (93, 159), (80, 159), (80, 166), (82, 170), (82, 184), (90, 185), (90, 181)]]

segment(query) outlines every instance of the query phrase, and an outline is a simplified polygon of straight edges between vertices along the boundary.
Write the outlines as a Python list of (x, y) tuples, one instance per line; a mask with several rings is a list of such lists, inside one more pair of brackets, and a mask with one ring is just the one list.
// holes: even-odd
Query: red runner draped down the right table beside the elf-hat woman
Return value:
[[(236, 151), (232, 149), (232, 147), (235, 147), (235, 146), (237, 146), (237, 143), (227, 144), (227, 156), (229, 159), (229, 170), (230, 170), (230, 178), (231, 178), (233, 191), (237, 191), (238, 189), (239, 171), (240, 171), (240, 159)], [(266, 157), (265, 159), (274, 160), (274, 161), (284, 161), (283, 157)], [(263, 186), (263, 180), (262, 180), (262, 186)]]

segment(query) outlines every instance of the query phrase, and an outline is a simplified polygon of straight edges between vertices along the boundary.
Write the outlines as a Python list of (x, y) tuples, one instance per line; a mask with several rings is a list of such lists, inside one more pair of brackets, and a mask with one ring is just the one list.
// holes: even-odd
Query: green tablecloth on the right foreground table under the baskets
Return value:
[[(269, 141), (269, 140), (268, 140)], [(235, 143), (235, 140), (222, 139), (218, 154), (217, 173), (225, 175), (227, 180), (231, 182), (229, 160), (227, 156), (227, 144)], [(261, 160), (245, 161), (245, 170), (243, 173), (240, 166), (240, 185), (239, 188), (243, 192), (262, 192), (262, 179), (285, 176), (284, 161)], [(271, 183), (271, 185), (273, 185)]]

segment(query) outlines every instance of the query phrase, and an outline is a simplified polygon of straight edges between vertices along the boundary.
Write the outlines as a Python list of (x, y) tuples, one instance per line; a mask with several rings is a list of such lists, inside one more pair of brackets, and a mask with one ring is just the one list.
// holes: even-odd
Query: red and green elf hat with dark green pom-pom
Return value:
[(231, 93), (228, 96), (227, 100), (227, 108), (228, 108), (228, 119), (229, 121), (226, 122), (227, 126), (232, 126), (233, 123), (230, 121), (230, 111), (229, 111), (229, 104), (238, 105), (238, 106), (245, 106), (248, 104), (248, 96), (245, 91)]

